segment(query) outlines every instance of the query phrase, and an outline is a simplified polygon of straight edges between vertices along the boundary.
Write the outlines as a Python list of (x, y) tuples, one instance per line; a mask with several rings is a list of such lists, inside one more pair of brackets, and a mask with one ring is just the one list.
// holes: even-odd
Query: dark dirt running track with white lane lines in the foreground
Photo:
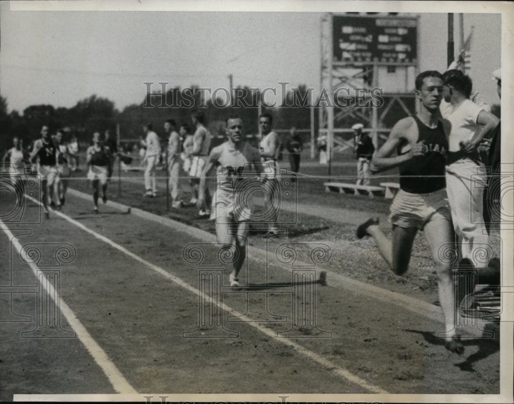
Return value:
[[(3, 196), (1, 203), (5, 208), (9, 199)], [(440, 323), (358, 290), (341, 290), (330, 279), (327, 286), (305, 284), (315, 301), (298, 302), (291, 265), (277, 260), (270, 259), (266, 279), (266, 263), (250, 257), (249, 283), (261, 286), (251, 293), (223, 292), (222, 301), (213, 292), (219, 304), (209, 306), (205, 318), (224, 328), (197, 330), (203, 318), (199, 269), (185, 261), (182, 249), (205, 241), (113, 207), (100, 209), (95, 215), (89, 200), (68, 195), (62, 213), (71, 221), (51, 213), (41, 225), (10, 226), (14, 236), (32, 230), (16, 240), (38, 246), (40, 268), (55, 265), (51, 243), (75, 247), (76, 259), (60, 271), (62, 301), (74, 325), (60, 318), (76, 338), (21, 337), (35, 327), (37, 295), (7, 293), (6, 286), (30, 288), (36, 281), (3, 231), (0, 400), (13, 394), (135, 392), (499, 394), (498, 340), (466, 340), (465, 354), (457, 356), (434, 337)], [(29, 203), (25, 216), (34, 219), (38, 212)], [(278, 244), (270, 247), (273, 253)], [(215, 266), (216, 246), (202, 248), (202, 265)], [(224, 291), (227, 278), (225, 272)], [(209, 293), (205, 284), (200, 289)], [(277, 337), (291, 328), (292, 310), (308, 311), (306, 305), (316, 308), (310, 319), (317, 328), (303, 324), (290, 330), (303, 338)], [(13, 322), (27, 320), (21, 316), (31, 316), (30, 322)], [(184, 338), (183, 332), (195, 330), (201, 338)], [(230, 338), (206, 338), (219, 334)]]

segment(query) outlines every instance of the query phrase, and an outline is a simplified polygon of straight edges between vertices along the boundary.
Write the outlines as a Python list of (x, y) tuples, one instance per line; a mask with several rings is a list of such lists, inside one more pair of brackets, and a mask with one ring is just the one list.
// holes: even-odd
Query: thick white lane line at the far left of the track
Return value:
[[(36, 203), (39, 203), (36, 199), (30, 198)], [(12, 245), (16, 248), (16, 251), (18, 253), (21, 253), (21, 250), (23, 249), (23, 246), (20, 244), (20, 242), (16, 239), (16, 237), (9, 231), (7, 226), (2, 222), (0, 219), (0, 228), (4, 230), (4, 233), (9, 237), (9, 240), (11, 241)], [(32, 269), (32, 272), (34, 273), (34, 276), (38, 276), (38, 267), (33, 264), (29, 263), (30, 268)], [(97, 342), (89, 335), (86, 328), (82, 325), (82, 323), (79, 321), (75, 313), (68, 307), (68, 305), (64, 302), (64, 300), (61, 299), (61, 297), (58, 297), (59, 301), (56, 302), (57, 293), (56, 290), (53, 288), (52, 285), (47, 284), (46, 282), (43, 283), (43, 288), (45, 289), (47, 295), (56, 303), (58, 304), (58, 307), (61, 309), (61, 313), (64, 315), (66, 320), (68, 321), (71, 328), (73, 328), (74, 332), (77, 334), (79, 340), (84, 344), (87, 351), (93, 356), (93, 359), (95, 359), (95, 362), (100, 366), (102, 371), (105, 373), (111, 384), (113, 385), (113, 388), (118, 393), (124, 393), (124, 394), (137, 394), (137, 391), (128, 383), (128, 381), (123, 377), (121, 372), (116, 368), (116, 365), (111, 362), (107, 354), (102, 350), (100, 345), (97, 344)]]

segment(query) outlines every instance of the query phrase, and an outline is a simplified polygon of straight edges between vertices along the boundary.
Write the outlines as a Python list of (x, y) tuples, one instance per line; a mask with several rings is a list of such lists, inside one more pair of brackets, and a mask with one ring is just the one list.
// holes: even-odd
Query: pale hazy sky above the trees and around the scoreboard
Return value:
[[(364, 7), (369, 3), (362, 4), (370, 11)], [(143, 101), (145, 81), (228, 87), (229, 74), (234, 86), (278, 88), (287, 81), (319, 91), (321, 12), (12, 11), (8, 2), (0, 7), (0, 89), (9, 110), (71, 107), (92, 94), (123, 109)], [(475, 27), (469, 72), (474, 87), (488, 103), (498, 103), (491, 72), (500, 67), (501, 15), (466, 14), (464, 21), (466, 36)], [(419, 22), (419, 68), (443, 71), (447, 14), (420, 14)], [(456, 47), (458, 35), (455, 15)]]

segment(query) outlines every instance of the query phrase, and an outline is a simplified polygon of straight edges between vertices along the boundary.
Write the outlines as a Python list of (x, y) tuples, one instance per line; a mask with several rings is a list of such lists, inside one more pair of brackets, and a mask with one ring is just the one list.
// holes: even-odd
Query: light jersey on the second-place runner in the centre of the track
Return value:
[(261, 156), (246, 142), (241, 151), (225, 142), (212, 149), (210, 161), (217, 165), (216, 188), (232, 193), (238, 190), (238, 181), (253, 177), (254, 164), (260, 163)]

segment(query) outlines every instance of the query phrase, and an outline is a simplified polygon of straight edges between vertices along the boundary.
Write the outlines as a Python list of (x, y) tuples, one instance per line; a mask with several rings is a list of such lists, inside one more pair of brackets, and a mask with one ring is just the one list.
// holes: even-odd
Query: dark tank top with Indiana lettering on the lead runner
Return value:
[[(448, 153), (448, 140), (443, 123), (430, 128), (413, 117), (418, 127), (418, 142), (425, 144), (425, 155), (414, 156), (400, 164), (400, 188), (413, 194), (426, 194), (446, 187), (445, 164)], [(401, 154), (398, 150), (398, 154)]]

